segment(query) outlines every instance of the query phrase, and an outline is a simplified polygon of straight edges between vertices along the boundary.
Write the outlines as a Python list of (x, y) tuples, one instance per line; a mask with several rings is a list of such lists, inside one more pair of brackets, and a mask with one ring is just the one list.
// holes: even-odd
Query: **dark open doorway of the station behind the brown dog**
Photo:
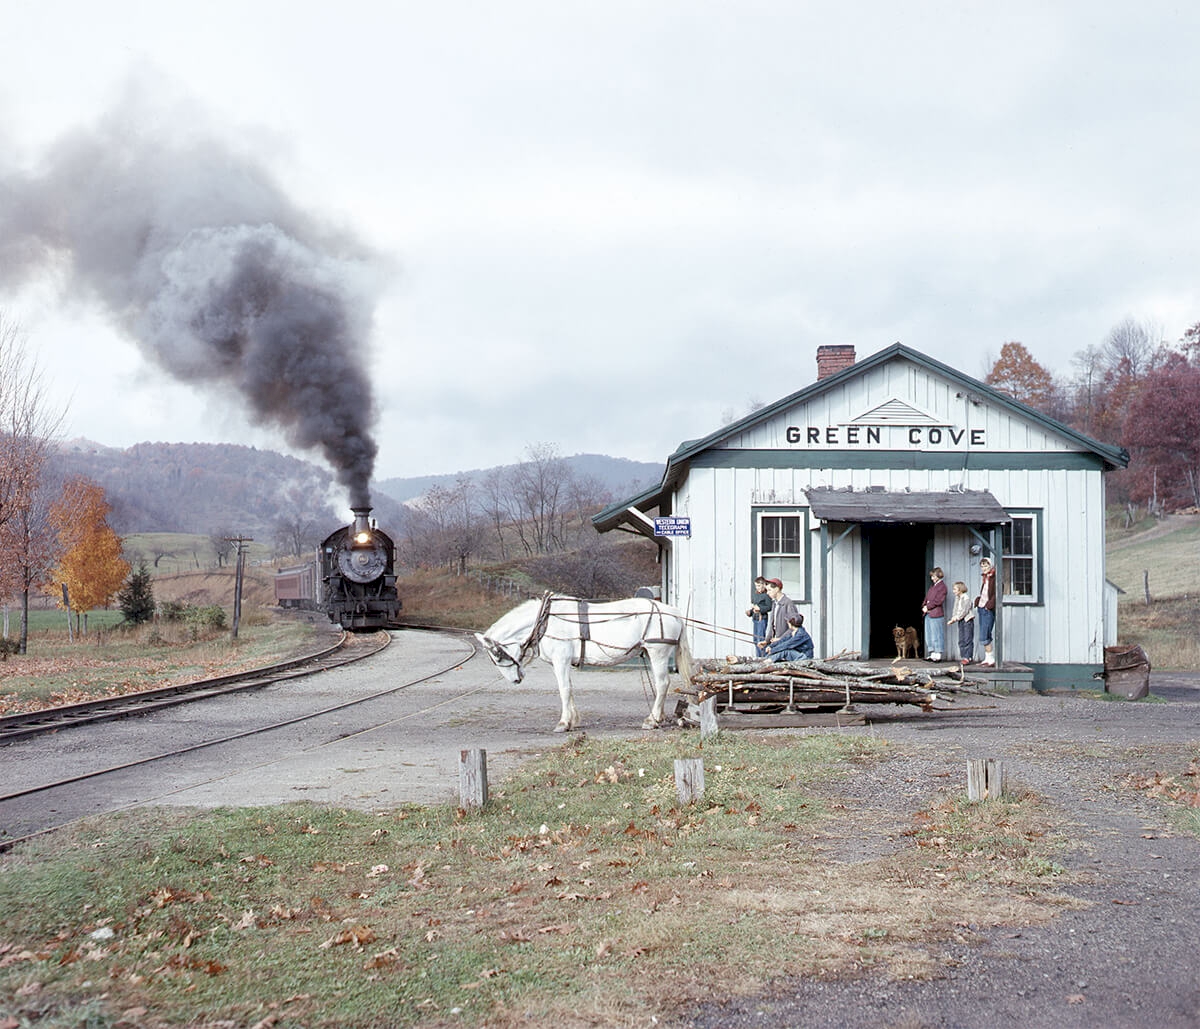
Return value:
[(934, 554), (934, 526), (930, 524), (863, 525), (866, 559), (866, 656), (895, 657), (892, 630), (912, 626), (925, 656), (925, 618), (920, 604), (929, 589)]

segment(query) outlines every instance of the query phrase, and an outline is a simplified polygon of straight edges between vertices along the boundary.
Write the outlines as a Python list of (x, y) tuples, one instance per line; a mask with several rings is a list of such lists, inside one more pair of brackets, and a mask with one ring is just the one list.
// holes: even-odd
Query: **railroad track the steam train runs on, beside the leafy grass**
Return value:
[(0, 746), (12, 740), (56, 733), (72, 726), (86, 726), (113, 718), (130, 718), (163, 708), (172, 708), (175, 704), (193, 703), (242, 690), (260, 690), (284, 679), (313, 675), (341, 664), (361, 661), (364, 657), (378, 654), (390, 642), (391, 636), (386, 632), (372, 633), (368, 637), (350, 637), (349, 633), (343, 632), (337, 643), (331, 646), (264, 668), (217, 675), (212, 679), (197, 679), (192, 682), (143, 690), (137, 693), (122, 693), (119, 697), (84, 700), (79, 704), (64, 704), (41, 711), (6, 715), (0, 717)]

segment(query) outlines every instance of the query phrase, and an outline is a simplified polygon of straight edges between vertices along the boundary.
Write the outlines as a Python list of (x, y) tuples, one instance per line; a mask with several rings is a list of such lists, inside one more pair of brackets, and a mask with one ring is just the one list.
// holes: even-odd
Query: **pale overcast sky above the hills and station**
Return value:
[[(1124, 318), (1200, 321), (1200, 5), (0, 11), (0, 172), (127, 113), (250, 155), (372, 255), (376, 477), (534, 443), (661, 462), (811, 383), (827, 343), (982, 378), (1016, 339), (1066, 373)], [(52, 265), (0, 307), (70, 435), (284, 449)]]

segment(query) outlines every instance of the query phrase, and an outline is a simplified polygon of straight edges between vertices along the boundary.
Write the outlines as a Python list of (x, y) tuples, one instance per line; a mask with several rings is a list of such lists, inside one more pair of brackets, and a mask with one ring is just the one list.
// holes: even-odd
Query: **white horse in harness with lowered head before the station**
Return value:
[(662, 724), (668, 662), (683, 638), (683, 622), (678, 610), (658, 601), (595, 603), (545, 594), (541, 600), (515, 607), (487, 632), (476, 632), (475, 639), (510, 682), (524, 679), (524, 666), (534, 654), (553, 667), (563, 702), (556, 733), (580, 724), (571, 696), (571, 666), (618, 664), (642, 652), (650, 661), (654, 678), (654, 705), (642, 728), (656, 729)]

